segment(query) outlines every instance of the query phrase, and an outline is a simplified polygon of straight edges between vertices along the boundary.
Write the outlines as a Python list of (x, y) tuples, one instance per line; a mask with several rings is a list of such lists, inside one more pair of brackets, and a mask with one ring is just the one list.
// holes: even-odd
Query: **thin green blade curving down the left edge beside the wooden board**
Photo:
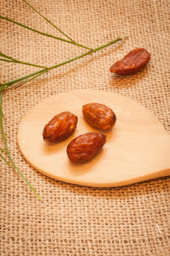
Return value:
[[(4, 127), (3, 127), (3, 121), (2, 121), (2, 94), (3, 92), (0, 93), (0, 127), (1, 127), (1, 133), (2, 133), (2, 138), (4, 140), (4, 144), (5, 144), (5, 147), (7, 149), (7, 152), (8, 152), (8, 155), (9, 155), (9, 158), (11, 160), (11, 163), (13, 165), (13, 167), (18, 171), (18, 173), (22, 176), (22, 178), (24, 179), (24, 181), (28, 184), (28, 186), (30, 186), (30, 188), (33, 190), (33, 192), (35, 193), (35, 195), (37, 196), (37, 198), (39, 200), (41, 200), (41, 198), (39, 197), (39, 195), (37, 194), (37, 192), (35, 191), (35, 189), (33, 188), (33, 186), (28, 182), (28, 180), (24, 177), (24, 175), (22, 174), (22, 172), (17, 168), (17, 166), (15, 165), (15, 163), (13, 162), (13, 159), (12, 159), (12, 156), (11, 156), (11, 152), (9, 150), (9, 147), (8, 147), (8, 144), (7, 144), (7, 140), (6, 140), (6, 136), (4, 134)], [(2, 157), (2, 155), (0, 154), (0, 156)], [(2, 159), (4, 159), (4, 157), (2, 157)], [(5, 162), (7, 162), (5, 159), (4, 159)], [(7, 163), (8, 164), (8, 163)]]

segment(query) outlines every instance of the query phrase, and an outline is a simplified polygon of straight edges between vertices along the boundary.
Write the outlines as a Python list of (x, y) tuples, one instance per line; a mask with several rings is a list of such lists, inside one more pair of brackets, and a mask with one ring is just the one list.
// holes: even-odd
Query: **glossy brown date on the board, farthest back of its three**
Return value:
[(116, 124), (115, 113), (104, 104), (88, 103), (83, 106), (82, 112), (86, 121), (98, 129), (109, 130)]

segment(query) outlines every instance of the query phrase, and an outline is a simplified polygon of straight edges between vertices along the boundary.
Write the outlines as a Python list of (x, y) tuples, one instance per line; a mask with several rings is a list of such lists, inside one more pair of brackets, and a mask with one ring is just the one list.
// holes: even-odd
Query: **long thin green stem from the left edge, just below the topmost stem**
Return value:
[(59, 38), (59, 37), (57, 37), (57, 36), (52, 36), (52, 35), (50, 35), (50, 34), (43, 33), (43, 32), (38, 31), (38, 30), (36, 30), (36, 29), (32, 29), (31, 27), (28, 27), (28, 26), (26, 26), (26, 25), (23, 25), (23, 24), (21, 24), (21, 23), (15, 21), (15, 20), (11, 20), (11, 19), (9, 19), (9, 18), (5, 18), (5, 17), (3, 17), (3, 16), (1, 16), (1, 15), (0, 15), (0, 18), (2, 18), (2, 19), (4, 19), (4, 20), (8, 20), (8, 21), (10, 21), (10, 22), (13, 22), (13, 23), (15, 23), (16, 25), (19, 25), (19, 26), (24, 27), (24, 28), (26, 28), (26, 29), (30, 29), (31, 31), (34, 31), (34, 32), (36, 32), (36, 33), (38, 33), (38, 34), (41, 34), (41, 35), (43, 35), (43, 36), (49, 36), (49, 37), (52, 37), (52, 38), (55, 38), (55, 39), (64, 41), (64, 42), (66, 42), (66, 43), (71, 43), (71, 44), (73, 44), (73, 45), (77, 45), (77, 46), (80, 46), (80, 47), (83, 47), (83, 48), (86, 48), (86, 49), (90, 49), (89, 47), (86, 47), (86, 46), (84, 46), (84, 45), (80, 45), (80, 44), (78, 44), (78, 43), (74, 43), (74, 42), (72, 42), (72, 41), (69, 41), (69, 40), (66, 40), (66, 39), (63, 39), (63, 38)]

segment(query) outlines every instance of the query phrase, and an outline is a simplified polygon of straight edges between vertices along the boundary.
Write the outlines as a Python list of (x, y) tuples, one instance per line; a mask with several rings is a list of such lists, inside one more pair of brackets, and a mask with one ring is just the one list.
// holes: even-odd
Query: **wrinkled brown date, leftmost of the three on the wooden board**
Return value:
[(44, 127), (44, 141), (58, 142), (67, 139), (76, 129), (77, 121), (77, 116), (68, 111), (54, 116)]

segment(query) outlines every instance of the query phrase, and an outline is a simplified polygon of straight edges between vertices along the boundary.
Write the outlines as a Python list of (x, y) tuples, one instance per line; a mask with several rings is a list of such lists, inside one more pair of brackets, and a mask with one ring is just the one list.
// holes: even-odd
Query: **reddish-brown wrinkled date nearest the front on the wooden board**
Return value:
[(68, 159), (78, 164), (87, 162), (102, 149), (105, 142), (106, 135), (98, 132), (87, 132), (79, 135), (68, 144)]

